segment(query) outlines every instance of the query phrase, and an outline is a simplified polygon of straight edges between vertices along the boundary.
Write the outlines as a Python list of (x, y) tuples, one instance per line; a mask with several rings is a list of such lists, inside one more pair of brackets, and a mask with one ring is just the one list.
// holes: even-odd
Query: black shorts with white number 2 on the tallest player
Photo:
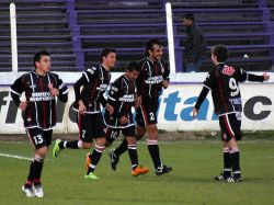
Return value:
[(141, 105), (136, 111), (135, 121), (139, 126), (156, 125), (159, 107), (158, 98), (142, 98)]

